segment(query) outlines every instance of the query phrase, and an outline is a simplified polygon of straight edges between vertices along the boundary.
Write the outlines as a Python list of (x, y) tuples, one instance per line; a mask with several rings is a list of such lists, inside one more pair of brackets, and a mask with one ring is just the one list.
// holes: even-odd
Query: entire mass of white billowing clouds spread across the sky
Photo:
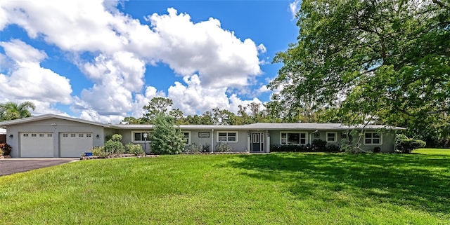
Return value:
[[(264, 60), (259, 60), (258, 55), (265, 53), (266, 47), (257, 46), (251, 39), (240, 40), (234, 32), (223, 29), (217, 19), (194, 23), (188, 14), (169, 8), (165, 15), (149, 15), (146, 17), (149, 24), (143, 25), (120, 12), (118, 4), (123, 2), (2, 1), (0, 30), (15, 24), (23, 27), (32, 39), (42, 39), (75, 55), (77, 60), (72, 63), (94, 83), (79, 96), (71, 97), (68, 79), (39, 66), (48, 57), (44, 51), (13, 40), (3, 43), (3, 47), (17, 68), (8, 75), (0, 74), (0, 79), (13, 87), (24, 88), (30, 82), (34, 86), (29, 88), (29, 94), (14, 90), (16, 96), (11, 98), (34, 97), (51, 104), (72, 102), (71, 109), (82, 118), (95, 121), (112, 121), (128, 114), (141, 116), (141, 108), (151, 97), (164, 95), (162, 90), (151, 86), (142, 93), (146, 64), (164, 62), (184, 76), (187, 84), (176, 82), (167, 90), (168, 97), (174, 100), (174, 107), (191, 114), (214, 107), (230, 109), (234, 103), (226, 91), (243, 90), (255, 76), (262, 74), (259, 65)], [(83, 53), (95, 57), (82, 58)], [(0, 65), (8, 64), (5, 58), (0, 54)], [(148, 82), (153, 85), (151, 79)], [(233, 101), (241, 100), (235, 97)]]

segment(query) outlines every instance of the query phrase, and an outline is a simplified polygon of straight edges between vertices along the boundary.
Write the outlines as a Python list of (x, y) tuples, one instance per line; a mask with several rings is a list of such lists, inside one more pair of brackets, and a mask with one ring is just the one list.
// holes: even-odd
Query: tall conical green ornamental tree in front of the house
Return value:
[(183, 135), (175, 127), (172, 116), (156, 116), (153, 132), (150, 134), (150, 147), (155, 154), (180, 154), (184, 150)]

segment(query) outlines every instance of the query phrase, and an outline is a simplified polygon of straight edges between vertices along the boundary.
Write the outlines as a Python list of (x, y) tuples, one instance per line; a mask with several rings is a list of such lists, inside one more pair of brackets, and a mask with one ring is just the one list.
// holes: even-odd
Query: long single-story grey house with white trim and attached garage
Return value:
[[(0, 122), (6, 128), (6, 142), (13, 148), (13, 158), (79, 157), (93, 146), (103, 146), (108, 135), (122, 135), (123, 144), (146, 146), (144, 133), (153, 125), (105, 124), (46, 114)], [(217, 142), (226, 142), (233, 151), (270, 152), (273, 144), (311, 144), (314, 139), (339, 145), (349, 129), (361, 132), (362, 125), (348, 127), (340, 123), (253, 123), (248, 125), (180, 125), (186, 145), (200, 144), (214, 151)], [(394, 151), (395, 133), (404, 128), (367, 125), (362, 135), (361, 149), (382, 152)], [(355, 135), (353, 139), (359, 138)]]

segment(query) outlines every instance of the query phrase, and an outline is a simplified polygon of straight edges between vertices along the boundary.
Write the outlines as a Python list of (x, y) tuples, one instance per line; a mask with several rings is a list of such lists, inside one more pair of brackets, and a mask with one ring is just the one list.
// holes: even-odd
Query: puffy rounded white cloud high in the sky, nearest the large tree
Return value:
[(202, 85), (214, 88), (242, 88), (250, 77), (262, 74), (251, 39), (240, 41), (222, 29), (217, 19), (193, 23), (185, 13), (178, 14), (174, 8), (167, 11), (168, 15), (153, 14), (148, 20), (160, 36), (158, 57), (176, 73), (198, 72)]

